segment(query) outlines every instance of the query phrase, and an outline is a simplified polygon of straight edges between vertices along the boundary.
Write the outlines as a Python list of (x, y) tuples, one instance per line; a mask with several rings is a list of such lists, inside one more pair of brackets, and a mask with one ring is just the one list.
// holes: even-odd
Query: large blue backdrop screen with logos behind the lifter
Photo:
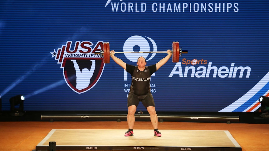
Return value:
[[(151, 76), (157, 111), (254, 112), (269, 95), (269, 1), (1, 1), (0, 95), (26, 111), (127, 111), (131, 76), (95, 52), (182, 54)], [(136, 65), (165, 53), (115, 54)], [(144, 110), (142, 103), (138, 110)]]

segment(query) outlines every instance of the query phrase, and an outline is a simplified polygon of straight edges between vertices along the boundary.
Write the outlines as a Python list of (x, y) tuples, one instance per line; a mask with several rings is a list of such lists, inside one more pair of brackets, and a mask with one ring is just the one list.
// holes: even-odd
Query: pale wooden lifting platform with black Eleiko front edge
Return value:
[[(161, 130), (161, 137), (153, 130), (134, 130), (125, 137), (126, 130), (52, 129), (36, 150), (113, 150), (113, 151), (241, 151), (241, 146), (227, 130)], [(50, 142), (55, 142), (51, 144)]]

